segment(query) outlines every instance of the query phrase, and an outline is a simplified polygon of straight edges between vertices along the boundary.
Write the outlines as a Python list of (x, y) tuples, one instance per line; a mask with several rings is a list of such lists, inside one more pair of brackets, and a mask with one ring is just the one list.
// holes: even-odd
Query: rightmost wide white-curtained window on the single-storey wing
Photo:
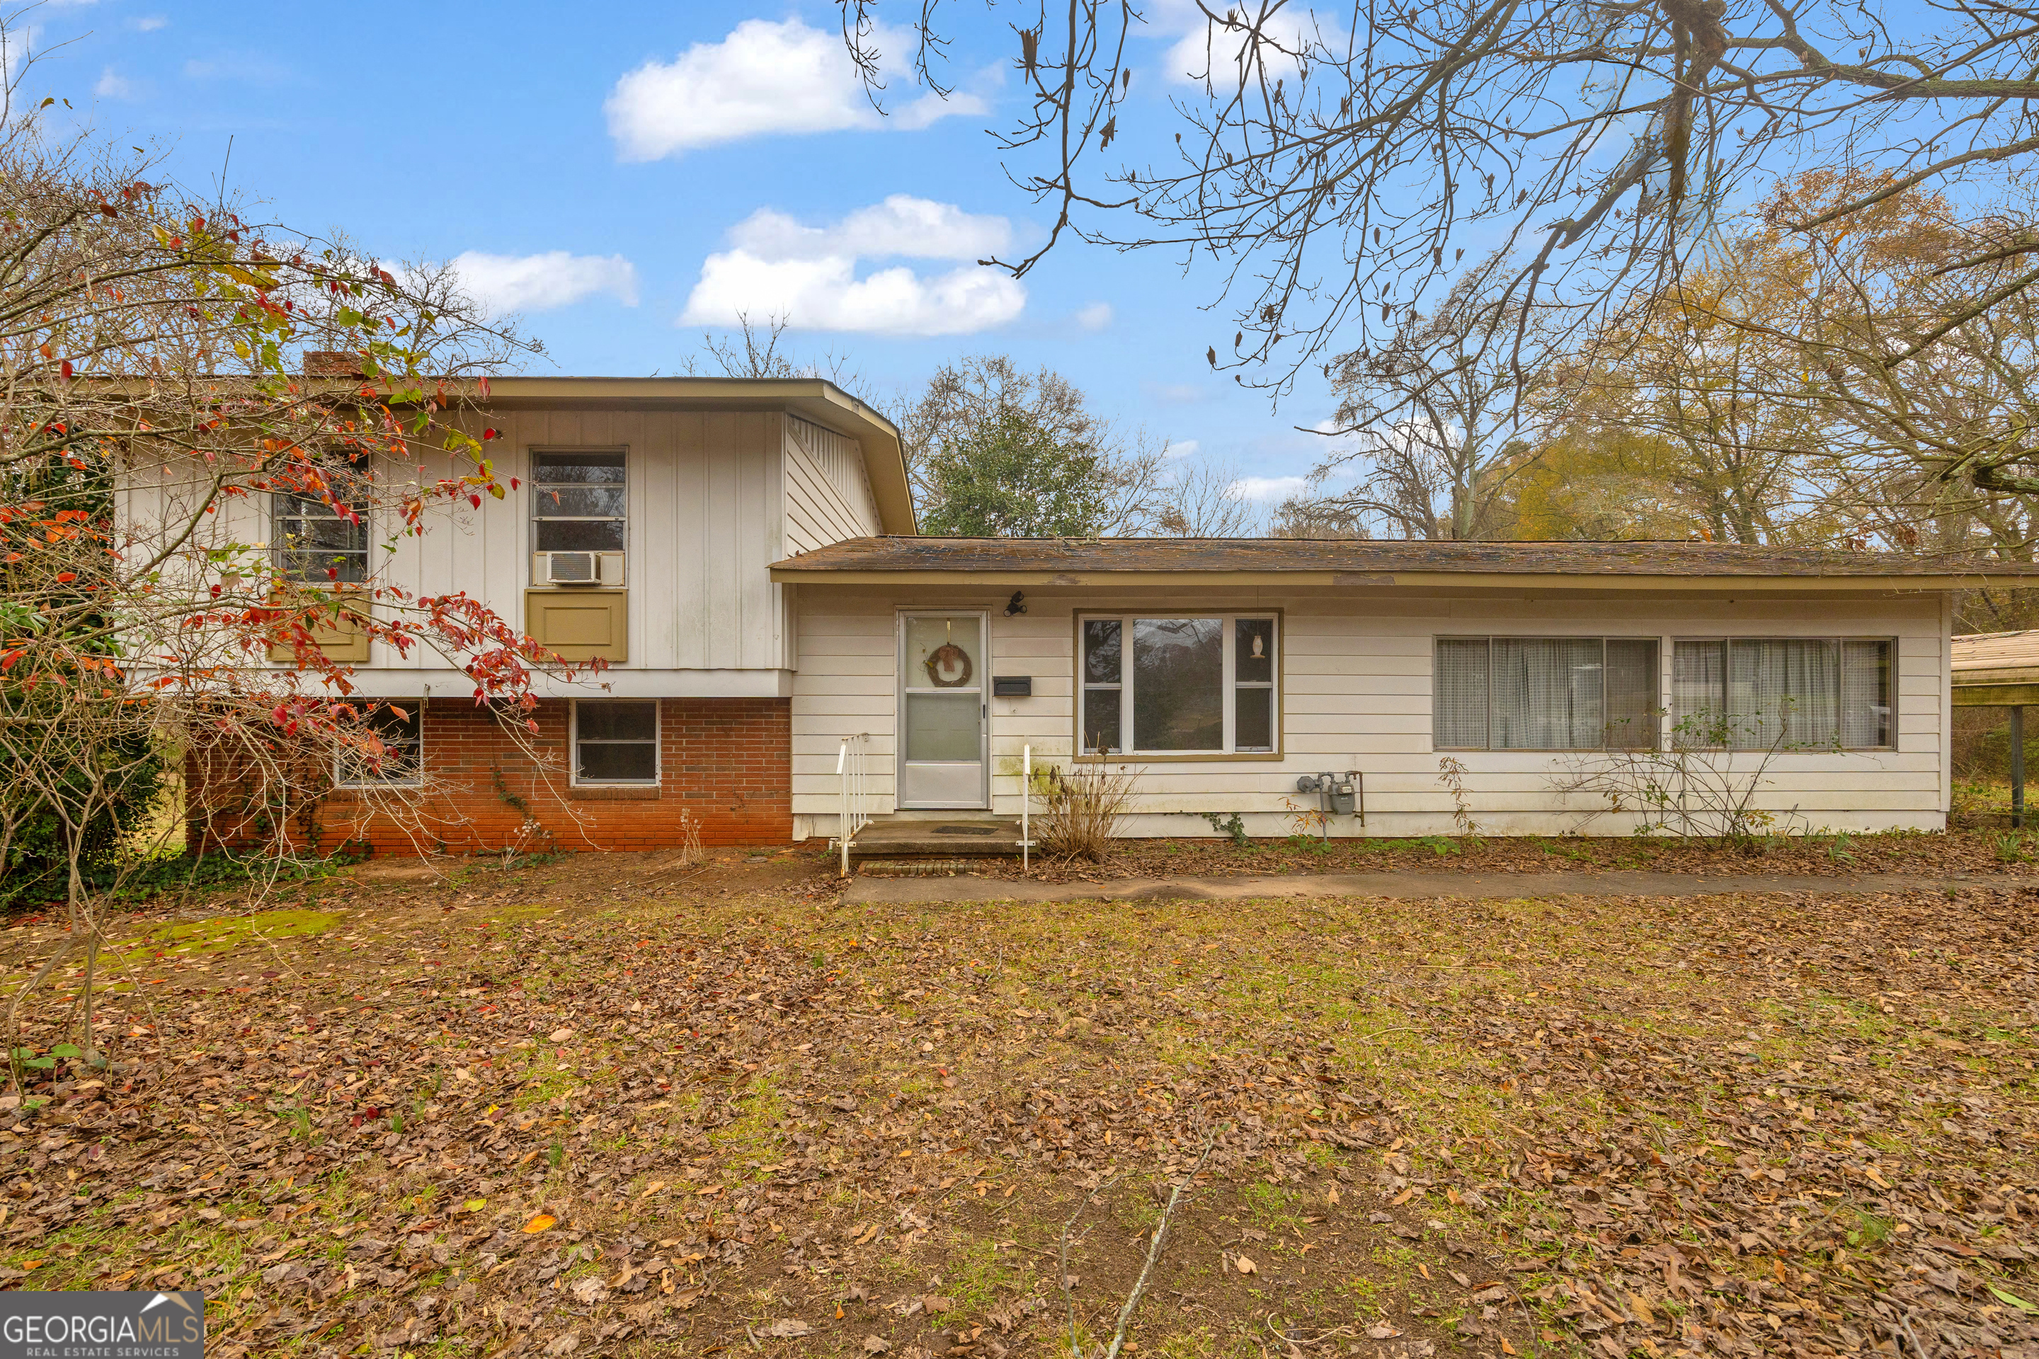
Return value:
[(1896, 744), (1888, 638), (1723, 638), (1672, 648), (1672, 740), (1729, 750)]

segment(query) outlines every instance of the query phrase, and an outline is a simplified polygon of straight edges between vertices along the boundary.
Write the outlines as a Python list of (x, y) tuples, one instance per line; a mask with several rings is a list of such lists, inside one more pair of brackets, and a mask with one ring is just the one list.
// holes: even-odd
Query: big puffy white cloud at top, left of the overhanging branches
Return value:
[[(875, 39), (881, 71), (903, 73), (899, 57), (911, 51), (911, 37), (879, 29)], [(618, 79), (604, 104), (610, 137), (626, 161), (657, 161), (771, 132), (924, 128), (950, 114), (985, 110), (975, 94), (946, 100), (924, 94), (889, 116), (879, 114), (842, 35), (797, 18), (746, 18), (720, 43), (695, 43), (671, 61), (646, 61)]]

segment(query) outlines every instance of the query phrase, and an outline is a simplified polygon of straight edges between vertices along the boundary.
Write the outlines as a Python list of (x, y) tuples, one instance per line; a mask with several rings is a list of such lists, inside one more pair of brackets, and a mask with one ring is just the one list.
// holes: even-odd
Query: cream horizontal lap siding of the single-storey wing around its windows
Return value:
[[(1028, 591), (1028, 613), (1003, 617), (1009, 591), (881, 591), (801, 587), (799, 670), (793, 676), (795, 835), (836, 825), (840, 740), (871, 736), (879, 809), (895, 782), (895, 617), (899, 609), (981, 609), (991, 623), (995, 674), (1032, 674), (1034, 697), (991, 699), (993, 811), (1020, 811), (1020, 752), (1066, 760), (1075, 727), (1075, 613), (1283, 611), (1278, 760), (1134, 760), (1138, 797), (1130, 835), (1209, 835), (1201, 813), (1238, 811), (1254, 835), (1295, 829), (1301, 774), (1362, 770), (1366, 827), (1340, 817), (1334, 835), (1452, 833), (1452, 795), (1437, 780), (1450, 754), (1466, 766), (1466, 801), (1491, 833), (1627, 833), (1633, 821), (1594, 811), (1554, 789), (1576, 756), (1550, 752), (1437, 752), (1431, 746), (1431, 666), (1437, 636), (1652, 636), (1676, 638), (1896, 638), (1896, 748), (1790, 752), (1772, 760), (1760, 803), (1794, 813), (1794, 825), (1831, 829), (1939, 829), (1947, 799), (1947, 615), (1937, 593), (1919, 595), (1698, 595), (1629, 593), (1478, 597), (1305, 591), (1152, 591), (1109, 597)], [(1590, 621), (1586, 621), (1590, 619)], [(1670, 648), (1660, 652), (1670, 693)], [(1749, 756), (1731, 756), (1747, 766)]]

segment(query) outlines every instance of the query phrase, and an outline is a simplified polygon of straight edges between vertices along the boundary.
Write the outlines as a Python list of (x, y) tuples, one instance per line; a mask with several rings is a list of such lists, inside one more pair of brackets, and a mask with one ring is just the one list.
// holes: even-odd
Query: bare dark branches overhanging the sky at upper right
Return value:
[[(942, 88), (954, 8), (838, 4), (873, 98), (881, 18)], [(1874, 171), (1802, 230), (2039, 149), (2031, 4), (1197, 0), (1203, 86), (1166, 112), (1134, 100), (1154, 35), (1130, 0), (989, 6), (1026, 88), (1007, 173), (1052, 212), (993, 263), (1024, 275), (1068, 236), (1209, 257), (1236, 314), (1209, 361), (1274, 387), (1393, 334), (1474, 247), (1482, 291), (1586, 326), (1670, 283), (1752, 177)]]

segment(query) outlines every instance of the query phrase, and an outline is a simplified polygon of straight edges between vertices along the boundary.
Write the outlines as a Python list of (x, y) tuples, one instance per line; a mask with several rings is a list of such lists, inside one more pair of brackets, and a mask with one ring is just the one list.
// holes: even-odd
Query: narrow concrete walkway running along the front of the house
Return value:
[(1001, 878), (856, 878), (844, 901), (1238, 901), (1242, 896), (1717, 896), (1723, 892), (1939, 892), (2039, 886), (2012, 874), (1690, 874), (1690, 872), (1327, 872), (1240, 878), (1013, 882)]

